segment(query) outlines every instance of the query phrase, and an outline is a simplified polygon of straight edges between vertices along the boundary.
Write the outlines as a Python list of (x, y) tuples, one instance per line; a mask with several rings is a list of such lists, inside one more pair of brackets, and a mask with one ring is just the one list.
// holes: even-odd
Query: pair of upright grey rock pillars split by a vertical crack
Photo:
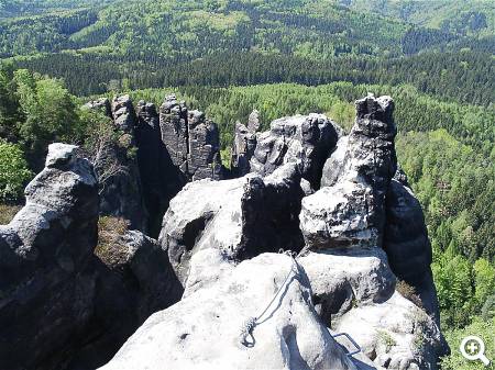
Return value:
[(202, 112), (189, 112), (168, 96), (160, 108), (160, 126), (173, 164), (189, 180), (222, 178), (218, 127)]

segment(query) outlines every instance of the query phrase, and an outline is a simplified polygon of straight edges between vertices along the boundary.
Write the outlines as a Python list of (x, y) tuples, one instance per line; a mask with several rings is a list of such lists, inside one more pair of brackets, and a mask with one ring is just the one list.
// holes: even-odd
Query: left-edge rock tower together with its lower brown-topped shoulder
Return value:
[[(156, 240), (129, 232), (98, 248), (98, 182), (77, 147), (52, 144), (26, 205), (0, 226), (0, 368), (90, 369), (182, 287)], [(110, 262), (109, 262), (110, 261)]]

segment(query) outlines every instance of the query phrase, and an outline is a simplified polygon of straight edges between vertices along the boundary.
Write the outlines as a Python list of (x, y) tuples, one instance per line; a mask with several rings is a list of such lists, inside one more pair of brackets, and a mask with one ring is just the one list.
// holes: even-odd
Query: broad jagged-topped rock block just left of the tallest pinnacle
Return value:
[(297, 162), (302, 178), (319, 189), (323, 164), (339, 136), (340, 128), (322, 114), (275, 120), (268, 132), (257, 135), (251, 170), (265, 176)]

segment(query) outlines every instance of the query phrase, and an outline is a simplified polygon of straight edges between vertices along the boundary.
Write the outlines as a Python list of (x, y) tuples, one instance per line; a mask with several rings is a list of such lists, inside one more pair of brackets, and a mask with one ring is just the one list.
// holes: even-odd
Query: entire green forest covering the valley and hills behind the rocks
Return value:
[[(50, 143), (90, 143), (92, 97), (175, 92), (219, 124), (228, 158), (253, 109), (263, 128), (321, 112), (349, 130), (355, 99), (389, 94), (457, 347), (495, 330), (494, 54), (492, 1), (2, 1), (0, 209), (22, 203)], [(461, 367), (479, 369), (443, 361)]]

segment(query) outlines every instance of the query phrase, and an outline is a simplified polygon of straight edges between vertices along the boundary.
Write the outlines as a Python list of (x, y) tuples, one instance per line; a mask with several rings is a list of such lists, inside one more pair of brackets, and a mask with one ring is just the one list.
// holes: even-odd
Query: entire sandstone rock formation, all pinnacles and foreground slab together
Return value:
[(437, 369), (431, 246), (397, 169), (389, 97), (359, 100), (348, 136), (319, 114), (260, 134), (253, 113), (238, 125), (242, 176), (220, 181), (218, 130), (201, 112), (175, 97), (160, 113), (129, 104), (116, 99), (111, 114), (136, 144), (143, 210), (168, 206), (160, 239), (107, 218), (98, 235), (108, 201), (91, 165), (52, 145), (25, 208), (0, 226), (0, 368), (96, 368), (156, 312), (102, 369)]

